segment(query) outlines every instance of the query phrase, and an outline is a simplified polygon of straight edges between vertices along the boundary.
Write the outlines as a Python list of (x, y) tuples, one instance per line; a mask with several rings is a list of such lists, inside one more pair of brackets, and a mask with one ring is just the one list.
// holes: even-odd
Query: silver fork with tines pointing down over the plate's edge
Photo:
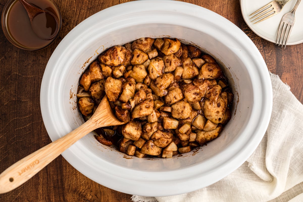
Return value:
[(295, 7), (291, 10), (291, 12), (283, 15), (281, 19), (278, 28), (277, 38), (276, 38), (276, 45), (278, 44), (279, 46), (281, 42), (281, 48), (283, 47), (283, 44), (284, 44), (284, 48), (286, 47), (290, 32), (295, 24), (295, 11), (297, 10), (300, 2), (301, 0), (298, 0)]

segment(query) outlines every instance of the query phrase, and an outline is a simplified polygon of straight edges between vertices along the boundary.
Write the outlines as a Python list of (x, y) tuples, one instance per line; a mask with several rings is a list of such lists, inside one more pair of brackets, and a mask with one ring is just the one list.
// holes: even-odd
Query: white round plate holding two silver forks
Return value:
[[(285, 13), (291, 11), (291, 9), (295, 6), (296, 0), (288, 2), (282, 9), (280, 13), (274, 15), (271, 18), (268, 18), (262, 22), (257, 24), (253, 24), (249, 20), (249, 16), (251, 13), (255, 12), (262, 6), (268, 4), (271, 0), (240, 0), (241, 12), (243, 18), (248, 25), (249, 28), (253, 32), (255, 32), (261, 38), (266, 39), (267, 41), (271, 41), (276, 43), (277, 30), (280, 24), (281, 18)], [(287, 45), (295, 45), (303, 42), (303, 3), (299, 4), (297, 11), (295, 12), (296, 22), (289, 36)]]

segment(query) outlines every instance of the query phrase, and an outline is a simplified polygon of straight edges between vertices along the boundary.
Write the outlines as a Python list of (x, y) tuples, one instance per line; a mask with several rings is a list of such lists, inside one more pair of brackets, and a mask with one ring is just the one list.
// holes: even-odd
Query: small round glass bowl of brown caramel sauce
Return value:
[[(62, 20), (60, 11), (56, 3), (52, 0), (28, 0), (29, 4), (42, 10), (51, 12), (58, 19), (58, 29), (60, 29)], [(39, 50), (45, 48), (55, 39), (50, 40), (39, 38), (32, 29), (28, 14), (23, 5), (18, 0), (9, 0), (2, 11), (2, 30), (4, 35), (13, 45), (24, 50)], [(41, 26), (47, 26), (53, 29), (54, 25), (41, 23)], [(57, 34), (58, 35), (58, 34)]]

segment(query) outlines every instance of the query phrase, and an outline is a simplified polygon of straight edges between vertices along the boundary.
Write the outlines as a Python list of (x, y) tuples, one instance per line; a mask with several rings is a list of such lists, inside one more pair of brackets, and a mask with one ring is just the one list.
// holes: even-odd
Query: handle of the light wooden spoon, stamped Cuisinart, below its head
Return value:
[(67, 135), (42, 147), (8, 167), (0, 174), (0, 194), (11, 191), (25, 183), (68, 147), (93, 131), (95, 129), (94, 127), (94, 124), (87, 121)]

